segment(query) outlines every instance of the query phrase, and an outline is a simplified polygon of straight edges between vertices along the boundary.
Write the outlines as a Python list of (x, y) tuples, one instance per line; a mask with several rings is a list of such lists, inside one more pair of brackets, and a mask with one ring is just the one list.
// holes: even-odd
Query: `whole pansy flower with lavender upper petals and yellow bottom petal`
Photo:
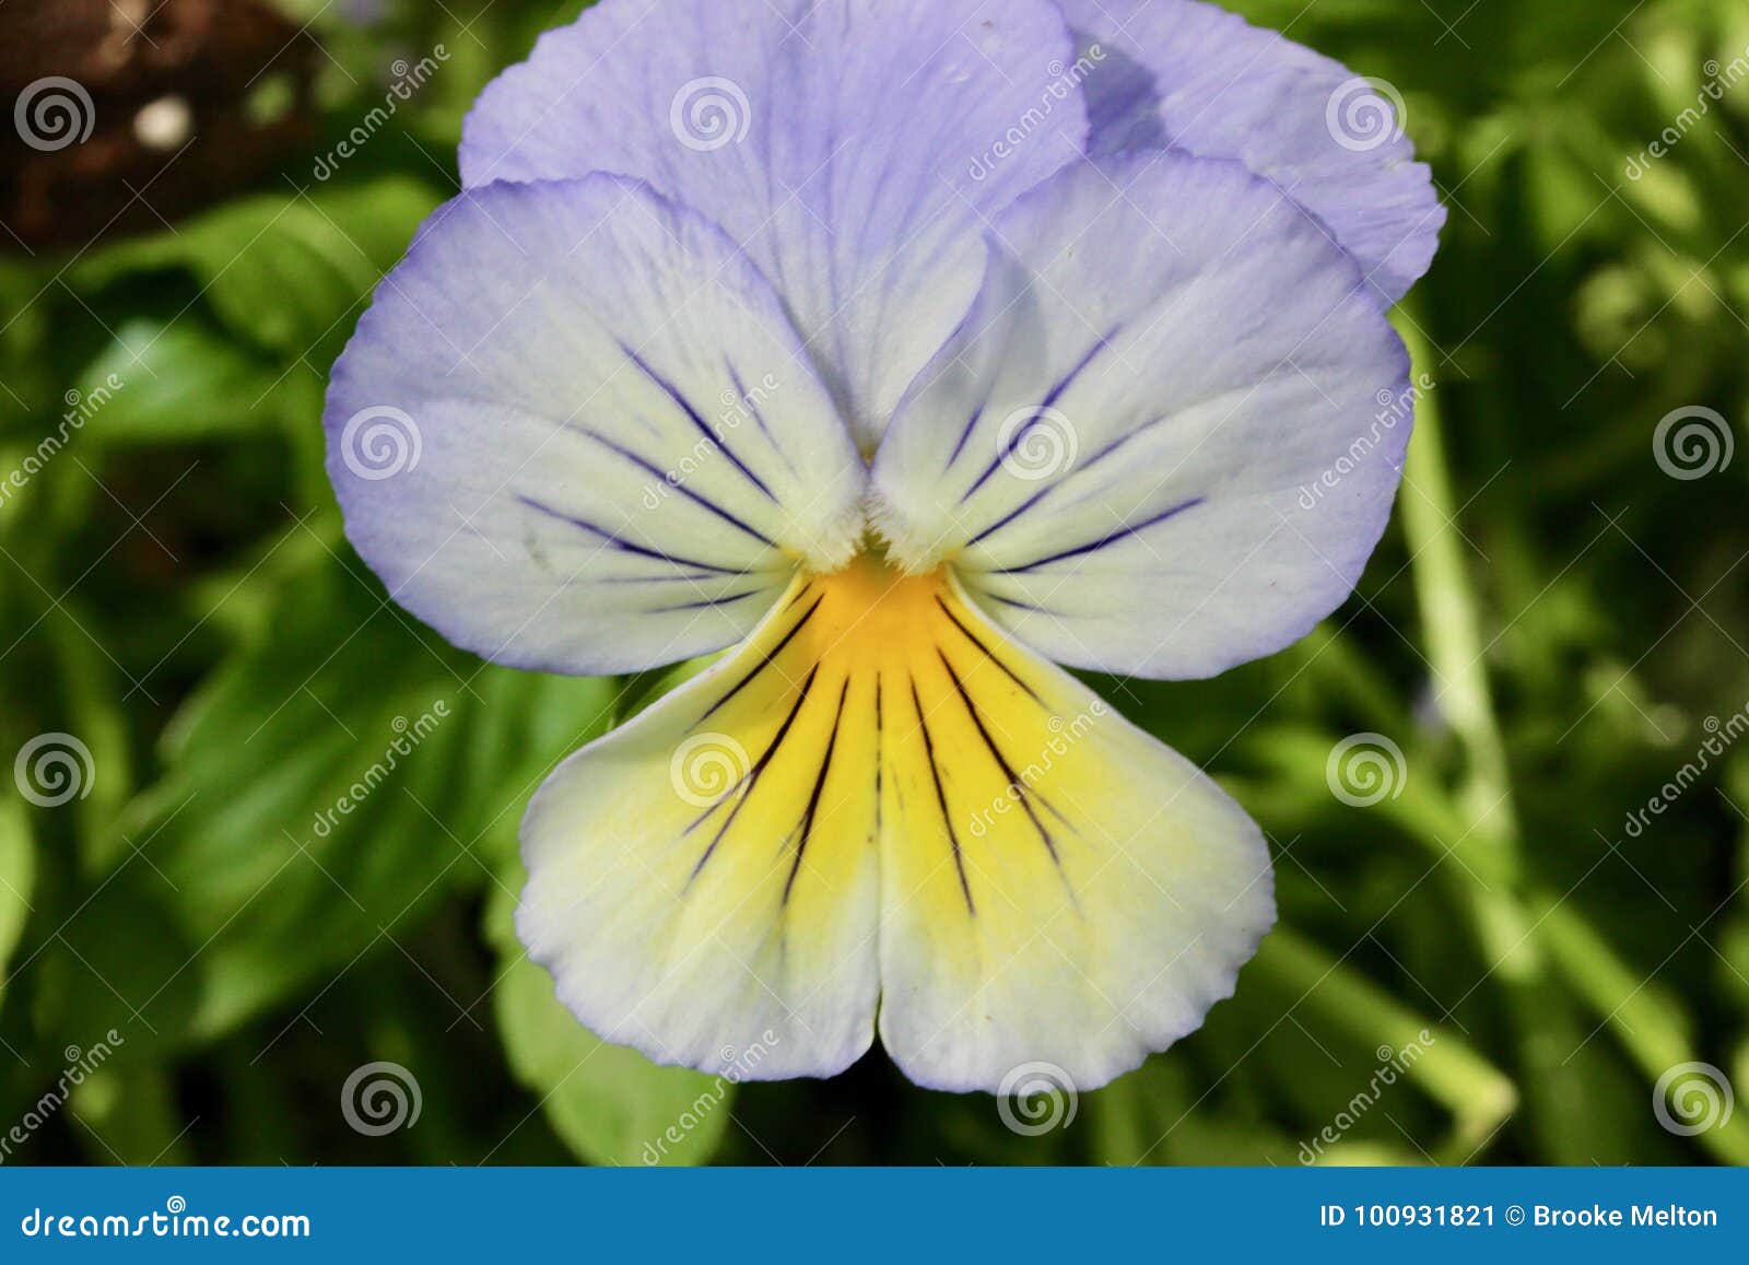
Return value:
[(1196, 1029), (1268, 849), (1065, 668), (1209, 677), (1352, 591), (1443, 222), (1383, 98), (1189, 0), (602, 0), (462, 177), (334, 371), (352, 542), (498, 663), (726, 651), (523, 821), (563, 1003), (953, 1090)]

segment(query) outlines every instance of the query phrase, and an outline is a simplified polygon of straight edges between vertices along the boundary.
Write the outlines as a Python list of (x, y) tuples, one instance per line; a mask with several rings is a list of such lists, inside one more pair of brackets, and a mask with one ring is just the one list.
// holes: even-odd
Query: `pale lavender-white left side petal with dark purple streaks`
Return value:
[(617, 177), (439, 210), (325, 425), (346, 534), (394, 598), (518, 667), (721, 649), (862, 532), (862, 460), (771, 287)]

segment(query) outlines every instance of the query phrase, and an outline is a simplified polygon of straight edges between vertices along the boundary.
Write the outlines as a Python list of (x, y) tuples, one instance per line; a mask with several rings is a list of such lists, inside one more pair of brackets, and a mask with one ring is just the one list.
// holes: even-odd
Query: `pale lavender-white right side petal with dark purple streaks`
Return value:
[(1069, 170), (992, 238), (874, 464), (895, 562), (951, 563), (1074, 667), (1205, 677), (1310, 632), (1385, 528), (1410, 430), (1408, 355), (1354, 259), (1272, 182), (1167, 150)]

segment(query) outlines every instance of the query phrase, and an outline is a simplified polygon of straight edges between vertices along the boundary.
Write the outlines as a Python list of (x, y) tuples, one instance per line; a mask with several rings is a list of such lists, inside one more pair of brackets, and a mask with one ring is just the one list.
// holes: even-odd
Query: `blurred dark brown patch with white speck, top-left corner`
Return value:
[(315, 56), (261, 0), (0, 2), (0, 250), (157, 229), (259, 180), (311, 142)]

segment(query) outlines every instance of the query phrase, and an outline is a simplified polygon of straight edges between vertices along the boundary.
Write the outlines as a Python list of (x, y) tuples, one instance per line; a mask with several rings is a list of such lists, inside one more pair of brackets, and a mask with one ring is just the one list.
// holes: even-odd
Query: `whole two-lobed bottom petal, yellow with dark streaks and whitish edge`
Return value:
[(1273, 920), (1195, 766), (1002, 640), (946, 572), (798, 579), (740, 649), (574, 756), (523, 831), (519, 927), (658, 1060), (1083, 1088), (1195, 1029)]

